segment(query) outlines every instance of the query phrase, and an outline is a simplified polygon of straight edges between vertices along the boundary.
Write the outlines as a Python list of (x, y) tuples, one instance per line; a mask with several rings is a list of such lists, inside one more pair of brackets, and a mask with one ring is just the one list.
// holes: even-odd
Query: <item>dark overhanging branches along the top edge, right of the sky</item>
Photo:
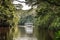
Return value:
[(40, 4), (40, 2), (46, 1), (46, 2), (50, 3), (51, 5), (60, 6), (60, 0), (26, 0), (26, 1), (27, 1), (26, 4), (29, 4), (29, 5), (38, 5), (38, 4)]

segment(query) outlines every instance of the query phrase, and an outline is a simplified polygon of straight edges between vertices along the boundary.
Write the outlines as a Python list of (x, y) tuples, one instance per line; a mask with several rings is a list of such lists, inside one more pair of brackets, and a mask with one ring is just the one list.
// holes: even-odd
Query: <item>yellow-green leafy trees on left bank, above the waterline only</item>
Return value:
[(2, 23), (9, 23), (10, 26), (17, 25), (19, 19), (15, 11), (11, 0), (0, 0), (0, 25)]

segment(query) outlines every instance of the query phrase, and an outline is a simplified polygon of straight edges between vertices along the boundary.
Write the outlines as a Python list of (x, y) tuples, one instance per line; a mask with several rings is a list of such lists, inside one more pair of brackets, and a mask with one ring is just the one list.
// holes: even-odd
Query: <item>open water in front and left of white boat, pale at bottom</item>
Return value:
[(14, 38), (14, 40), (37, 40), (37, 38), (32, 34), (27, 34), (24, 30), (24, 28), (20, 28), (20, 36), (17, 38)]

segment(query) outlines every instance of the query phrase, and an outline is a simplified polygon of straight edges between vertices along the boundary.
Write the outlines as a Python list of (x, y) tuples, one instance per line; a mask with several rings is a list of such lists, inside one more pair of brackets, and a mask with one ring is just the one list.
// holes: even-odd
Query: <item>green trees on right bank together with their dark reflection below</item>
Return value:
[[(57, 33), (57, 31), (60, 32), (60, 6), (55, 3), (51, 4), (47, 0), (40, 1), (36, 12), (36, 20), (34, 24), (36, 26), (36, 35), (38, 40), (53, 40), (54, 37), (52, 38), (52, 36), (58, 36), (59, 33)], [(49, 30), (52, 30), (52, 32), (54, 31), (54, 34), (56, 34), (49, 35)]]

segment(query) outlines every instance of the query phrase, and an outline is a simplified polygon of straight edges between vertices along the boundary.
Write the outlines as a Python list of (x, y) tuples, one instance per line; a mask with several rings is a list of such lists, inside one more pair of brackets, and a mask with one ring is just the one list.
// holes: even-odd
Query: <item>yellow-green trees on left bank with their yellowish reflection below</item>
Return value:
[[(13, 34), (16, 33), (18, 16), (11, 0), (0, 0), (0, 27), (9, 28), (5, 34), (6, 40), (13, 40)], [(10, 38), (11, 37), (11, 38)]]

